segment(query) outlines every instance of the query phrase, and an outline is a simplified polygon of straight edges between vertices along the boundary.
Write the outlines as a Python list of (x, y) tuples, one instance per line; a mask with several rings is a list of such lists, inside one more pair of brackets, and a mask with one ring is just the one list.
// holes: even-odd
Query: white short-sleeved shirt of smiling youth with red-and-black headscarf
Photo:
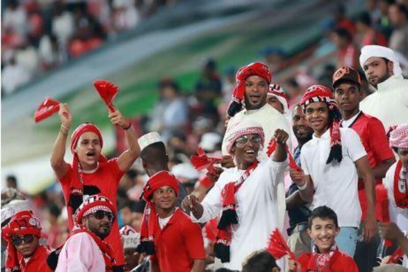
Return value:
[(312, 207), (333, 209), (340, 227), (359, 227), (361, 207), (358, 196), (358, 174), (354, 162), (367, 156), (359, 135), (352, 129), (340, 128), (343, 160), (326, 164), (330, 153), (330, 130), (320, 138), (313, 135), (300, 154), (304, 175), (310, 175), (315, 193)]

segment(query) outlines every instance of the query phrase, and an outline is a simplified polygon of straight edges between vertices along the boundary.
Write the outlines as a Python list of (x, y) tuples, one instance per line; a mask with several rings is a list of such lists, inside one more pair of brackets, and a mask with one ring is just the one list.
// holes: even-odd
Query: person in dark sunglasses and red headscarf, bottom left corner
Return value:
[(6, 270), (21, 272), (51, 271), (46, 263), (49, 251), (39, 244), (40, 221), (31, 211), (16, 213), (2, 228), (7, 240)]

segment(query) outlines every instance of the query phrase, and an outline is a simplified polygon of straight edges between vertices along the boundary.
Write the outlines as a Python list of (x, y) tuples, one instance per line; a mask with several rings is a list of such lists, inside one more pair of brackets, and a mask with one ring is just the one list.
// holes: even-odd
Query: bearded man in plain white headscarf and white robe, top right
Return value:
[(408, 80), (402, 77), (399, 62), (390, 48), (366, 45), (361, 50), (360, 65), (376, 91), (364, 98), (360, 109), (378, 118), (386, 131), (406, 122), (408, 116)]

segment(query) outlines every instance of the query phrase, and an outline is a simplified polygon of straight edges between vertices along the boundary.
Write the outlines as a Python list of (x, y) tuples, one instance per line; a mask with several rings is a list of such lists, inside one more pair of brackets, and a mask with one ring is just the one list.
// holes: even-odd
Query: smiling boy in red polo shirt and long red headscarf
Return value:
[(151, 256), (151, 271), (198, 272), (205, 268), (206, 253), (198, 224), (175, 202), (179, 183), (169, 171), (152, 175), (143, 189), (147, 205), (137, 251)]

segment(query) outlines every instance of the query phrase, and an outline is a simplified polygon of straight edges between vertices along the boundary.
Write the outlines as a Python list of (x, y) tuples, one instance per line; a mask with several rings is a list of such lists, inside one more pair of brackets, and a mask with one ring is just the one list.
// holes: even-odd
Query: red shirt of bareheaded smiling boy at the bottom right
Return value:
[[(316, 263), (313, 261), (311, 253), (303, 253), (300, 255), (298, 262), (302, 266), (302, 272), (317, 271)], [(330, 258), (327, 268), (322, 272), (359, 272), (359, 268), (355, 264), (353, 258), (337, 251)]]

